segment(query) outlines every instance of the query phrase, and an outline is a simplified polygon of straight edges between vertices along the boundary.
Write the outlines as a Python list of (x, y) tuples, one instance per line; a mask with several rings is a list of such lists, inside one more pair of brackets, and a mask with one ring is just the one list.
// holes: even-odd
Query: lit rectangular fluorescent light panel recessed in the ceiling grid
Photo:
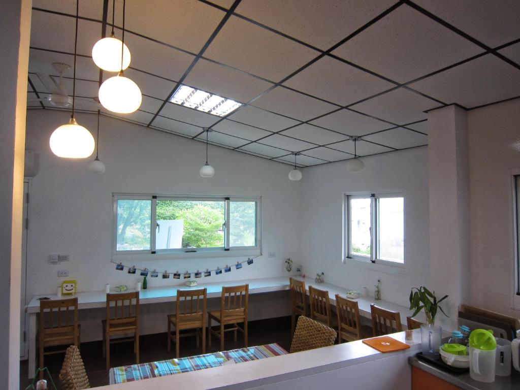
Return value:
[(170, 99), (170, 102), (218, 116), (224, 116), (237, 107), (242, 106), (242, 103), (235, 100), (210, 94), (187, 85), (181, 85)]

